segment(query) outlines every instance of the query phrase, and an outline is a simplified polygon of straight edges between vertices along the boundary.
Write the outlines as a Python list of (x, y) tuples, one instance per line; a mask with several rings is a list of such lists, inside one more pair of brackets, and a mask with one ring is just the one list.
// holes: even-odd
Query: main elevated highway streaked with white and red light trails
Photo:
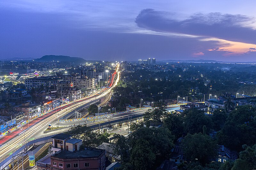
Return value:
[(48, 125), (57, 122), (58, 115), (59, 117), (64, 116), (68, 112), (74, 110), (76, 107), (83, 106), (93, 100), (101, 99), (111, 93), (112, 88), (117, 85), (120, 79), (120, 72), (118, 71), (118, 68), (119, 65), (116, 67), (116, 81), (110, 88), (102, 90), (99, 93), (93, 94), (92, 96), (85, 99), (70, 103), (69, 105), (59, 107), (57, 108), (57, 110), (53, 110), (31, 121), (29, 123), (29, 128), (28, 124), (26, 124), (22, 127), (22, 129), (17, 129), (9, 135), (2, 137), (0, 139), (1, 144), (3, 144), (2, 146), (0, 146), (0, 162), (2, 162), (4, 159), (6, 159), (9, 155), (18, 150), (22, 145), (26, 144), (27, 142), (37, 138), (41, 138), (43, 131), (48, 127)]

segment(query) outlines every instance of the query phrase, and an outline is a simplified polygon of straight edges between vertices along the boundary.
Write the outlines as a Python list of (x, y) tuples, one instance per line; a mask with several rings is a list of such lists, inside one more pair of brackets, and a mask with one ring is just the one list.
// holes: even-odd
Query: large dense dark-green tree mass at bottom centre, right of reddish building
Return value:
[(155, 169), (168, 158), (174, 146), (174, 136), (167, 128), (141, 127), (129, 138), (117, 137), (115, 153), (121, 155), (123, 169), (128, 169), (130, 165), (130, 169), (136, 170)]

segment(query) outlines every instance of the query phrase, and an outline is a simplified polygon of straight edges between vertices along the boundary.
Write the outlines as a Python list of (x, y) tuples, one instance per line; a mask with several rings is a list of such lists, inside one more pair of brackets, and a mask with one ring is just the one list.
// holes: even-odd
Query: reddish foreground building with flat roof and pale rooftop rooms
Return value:
[(82, 140), (66, 134), (52, 139), (53, 152), (36, 162), (37, 170), (105, 170), (105, 150), (81, 148)]

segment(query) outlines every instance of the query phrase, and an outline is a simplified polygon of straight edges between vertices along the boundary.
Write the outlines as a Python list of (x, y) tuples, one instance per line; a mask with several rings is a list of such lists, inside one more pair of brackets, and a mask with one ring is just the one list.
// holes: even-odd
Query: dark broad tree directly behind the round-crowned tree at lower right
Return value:
[(212, 120), (208, 115), (205, 115), (201, 110), (186, 110), (183, 112), (184, 125), (187, 133), (202, 133), (203, 126), (206, 126), (206, 133), (209, 134), (210, 129), (212, 129)]

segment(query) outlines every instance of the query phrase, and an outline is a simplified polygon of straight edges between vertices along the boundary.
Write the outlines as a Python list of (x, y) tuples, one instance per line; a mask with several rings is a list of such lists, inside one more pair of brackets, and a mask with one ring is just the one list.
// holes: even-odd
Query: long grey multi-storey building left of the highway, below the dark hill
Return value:
[(27, 89), (32, 89), (40, 87), (41, 85), (47, 87), (57, 87), (57, 84), (60, 82), (61, 78), (53, 78), (53, 77), (40, 77), (40, 78), (28, 78), (25, 80), (25, 86)]

